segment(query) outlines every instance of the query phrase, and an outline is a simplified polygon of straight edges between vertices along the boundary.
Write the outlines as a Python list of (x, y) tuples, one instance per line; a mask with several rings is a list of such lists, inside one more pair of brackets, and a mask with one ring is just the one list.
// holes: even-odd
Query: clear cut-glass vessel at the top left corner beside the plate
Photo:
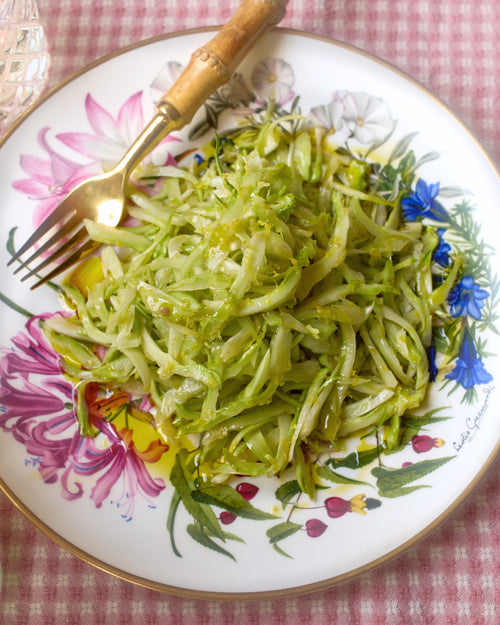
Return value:
[(0, 134), (39, 97), (50, 55), (35, 0), (0, 0)]

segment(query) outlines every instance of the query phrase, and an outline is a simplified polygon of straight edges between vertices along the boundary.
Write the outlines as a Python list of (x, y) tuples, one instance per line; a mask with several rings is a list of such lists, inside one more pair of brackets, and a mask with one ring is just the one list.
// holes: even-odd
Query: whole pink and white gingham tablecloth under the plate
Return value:
[[(38, 0), (50, 86), (118, 48), (221, 24), (238, 0)], [(500, 162), (497, 0), (290, 0), (283, 26), (325, 35), (411, 74)], [(193, 600), (135, 586), (64, 551), (0, 494), (3, 625), (495, 625), (500, 623), (500, 462), (439, 529), (328, 590), (264, 601)]]

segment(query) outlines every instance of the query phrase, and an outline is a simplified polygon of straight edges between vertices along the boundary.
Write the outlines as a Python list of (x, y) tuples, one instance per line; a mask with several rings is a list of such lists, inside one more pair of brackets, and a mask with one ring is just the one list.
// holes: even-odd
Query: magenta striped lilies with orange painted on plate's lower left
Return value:
[[(99, 434), (80, 436), (73, 386), (61, 376), (59, 356), (40, 328), (46, 317), (29, 319), (26, 332), (12, 339), (12, 348), (1, 348), (0, 428), (24, 445), (32, 460), (27, 466), (36, 466), (45, 483), (60, 482), (63, 497), (84, 495), (91, 477), (89, 494), (96, 507), (113, 494), (113, 503), (125, 505), (122, 516), (130, 520), (138, 495), (151, 502), (165, 488), (147, 465), (158, 462), (168, 446), (153, 440), (138, 449), (131, 429), (106, 420), (97, 397), (90, 398), (89, 413)], [(125, 393), (118, 399), (129, 401)]]

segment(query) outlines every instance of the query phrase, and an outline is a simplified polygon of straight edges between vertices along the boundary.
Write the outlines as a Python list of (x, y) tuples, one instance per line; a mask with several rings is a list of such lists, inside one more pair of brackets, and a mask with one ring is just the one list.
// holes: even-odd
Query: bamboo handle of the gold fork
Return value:
[[(204, 46), (157, 103), (173, 107), (188, 124), (205, 100), (233, 75), (250, 48), (283, 18), (288, 0), (243, 0), (233, 17)], [(170, 113), (171, 115), (171, 113)]]

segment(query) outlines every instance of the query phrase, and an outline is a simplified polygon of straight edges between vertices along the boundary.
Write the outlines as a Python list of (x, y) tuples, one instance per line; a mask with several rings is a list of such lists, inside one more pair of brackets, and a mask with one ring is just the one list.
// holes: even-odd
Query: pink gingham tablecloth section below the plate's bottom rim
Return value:
[(396, 560), (330, 589), (265, 601), (166, 595), (103, 573), (0, 496), (2, 625), (497, 625), (500, 463), (451, 519)]

